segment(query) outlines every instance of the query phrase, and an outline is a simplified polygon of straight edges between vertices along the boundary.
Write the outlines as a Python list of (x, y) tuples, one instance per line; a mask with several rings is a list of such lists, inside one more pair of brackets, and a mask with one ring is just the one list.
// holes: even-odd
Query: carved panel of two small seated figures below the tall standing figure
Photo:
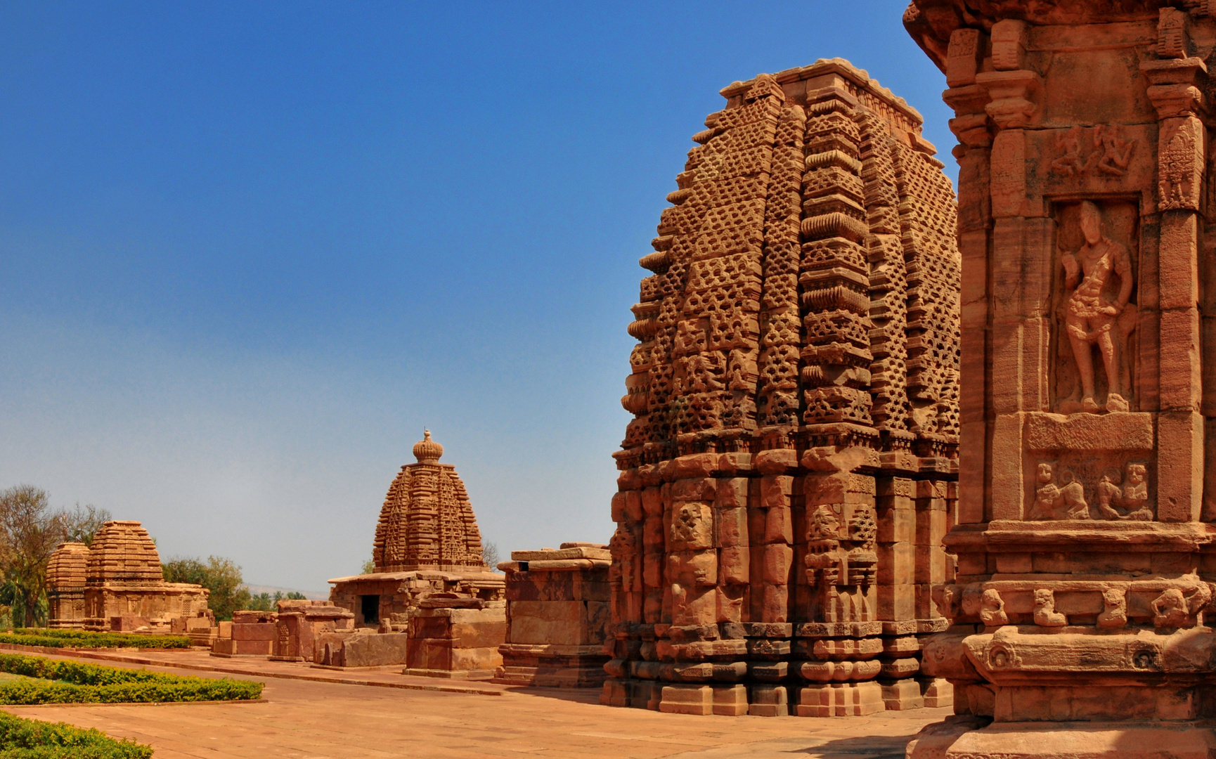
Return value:
[(1126, 477), (1114, 467), (1103, 472), (1094, 485), (1097, 504), (1091, 507), (1085, 496), (1085, 484), (1071, 470), (1062, 470), (1057, 484), (1055, 467), (1040, 462), (1035, 504), (1026, 518), (1152, 522), (1153, 508), (1148, 505), (1148, 468), (1143, 463), (1131, 462), (1125, 470)]

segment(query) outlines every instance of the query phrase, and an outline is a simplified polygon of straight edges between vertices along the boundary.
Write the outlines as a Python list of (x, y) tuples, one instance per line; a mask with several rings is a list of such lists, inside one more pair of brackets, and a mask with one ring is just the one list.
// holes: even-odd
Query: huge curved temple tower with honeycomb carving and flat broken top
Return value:
[(694, 714), (950, 703), (958, 252), (919, 114), (845, 61), (725, 90), (629, 332), (602, 701)]

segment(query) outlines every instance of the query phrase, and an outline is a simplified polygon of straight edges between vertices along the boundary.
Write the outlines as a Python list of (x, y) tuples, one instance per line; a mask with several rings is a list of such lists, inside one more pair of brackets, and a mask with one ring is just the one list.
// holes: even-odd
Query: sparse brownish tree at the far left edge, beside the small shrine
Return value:
[(19, 613), (19, 624), (45, 623), (46, 561), (64, 538), (66, 517), (51, 510), (46, 490), (34, 485), (0, 490), (0, 566), (5, 579), (0, 591), (10, 598), (13, 617)]

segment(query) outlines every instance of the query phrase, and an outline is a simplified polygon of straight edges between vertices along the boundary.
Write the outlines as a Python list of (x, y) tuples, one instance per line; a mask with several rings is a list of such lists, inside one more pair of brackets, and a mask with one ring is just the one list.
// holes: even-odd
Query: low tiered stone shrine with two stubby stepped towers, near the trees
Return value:
[(165, 583), (156, 544), (139, 522), (106, 522), (91, 546), (60, 544), (47, 562), (46, 586), (55, 628), (208, 639), (214, 628), (209, 591)]

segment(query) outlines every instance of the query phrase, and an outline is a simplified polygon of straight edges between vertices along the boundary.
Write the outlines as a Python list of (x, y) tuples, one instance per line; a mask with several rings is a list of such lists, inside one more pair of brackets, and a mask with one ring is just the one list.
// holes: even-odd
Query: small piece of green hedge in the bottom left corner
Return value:
[(152, 747), (100, 730), (40, 723), (0, 712), (0, 759), (151, 759)]

